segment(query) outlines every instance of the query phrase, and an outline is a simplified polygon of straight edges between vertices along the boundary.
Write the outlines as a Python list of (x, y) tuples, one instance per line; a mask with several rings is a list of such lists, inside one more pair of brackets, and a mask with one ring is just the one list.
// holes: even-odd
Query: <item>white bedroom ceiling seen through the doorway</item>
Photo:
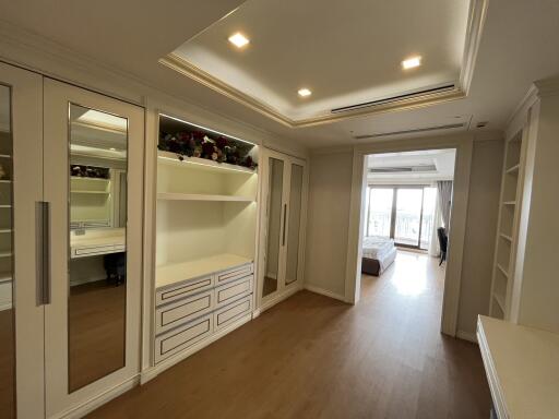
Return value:
[(368, 168), (405, 168), (405, 167), (429, 167), (435, 166), (433, 171), (409, 172), (394, 171), (391, 173), (369, 172), (367, 178), (371, 182), (391, 183), (391, 182), (417, 182), (435, 180), (451, 180), (454, 178), (454, 160), (456, 156), (455, 149), (431, 149), (421, 152), (404, 152), (404, 153), (384, 153), (371, 154), (368, 156)]

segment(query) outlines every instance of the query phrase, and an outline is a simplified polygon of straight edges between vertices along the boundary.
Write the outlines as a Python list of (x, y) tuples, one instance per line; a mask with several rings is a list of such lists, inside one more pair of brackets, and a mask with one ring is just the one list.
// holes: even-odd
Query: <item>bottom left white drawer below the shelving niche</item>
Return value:
[(160, 362), (207, 337), (213, 332), (213, 315), (206, 315), (155, 338), (155, 362)]

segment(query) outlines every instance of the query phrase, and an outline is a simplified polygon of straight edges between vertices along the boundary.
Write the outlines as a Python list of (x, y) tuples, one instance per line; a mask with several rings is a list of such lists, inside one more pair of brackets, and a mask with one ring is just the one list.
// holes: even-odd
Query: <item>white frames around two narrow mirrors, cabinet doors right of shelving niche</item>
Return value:
[[(284, 205), (287, 205), (287, 210), (285, 213), (285, 222), (282, 222), (280, 229), (280, 237), (282, 238), (284, 234), (287, 234), (289, 226), (289, 193), (290, 193), (290, 177), (292, 177), (292, 165), (296, 164), (302, 166), (304, 175), (302, 175), (302, 196), (301, 196), (301, 214), (300, 214), (300, 227), (299, 227), (299, 249), (298, 249), (298, 266), (297, 266), (297, 280), (286, 285), (285, 284), (285, 263), (287, 258), (287, 246), (280, 246), (280, 255), (278, 255), (278, 275), (277, 275), (277, 289), (262, 297), (262, 289), (264, 285), (264, 275), (265, 275), (265, 258), (267, 251), (267, 197), (270, 192), (270, 165), (269, 159), (276, 158), (284, 161), (284, 173), (283, 173), (283, 184), (282, 184), (282, 208)], [(307, 201), (308, 201), (308, 184), (309, 184), (309, 173), (307, 161), (287, 155), (285, 153), (281, 153), (271, 148), (262, 147), (260, 155), (260, 173), (261, 176), (261, 205), (260, 205), (260, 228), (259, 228), (259, 249), (258, 252), (258, 284), (257, 284), (257, 296), (255, 296), (255, 307), (254, 314), (259, 315), (262, 311), (269, 309), (270, 307), (275, 306), (277, 302), (284, 300), (285, 298), (292, 296), (298, 290), (302, 289), (304, 284), (304, 273), (305, 273), (305, 231), (307, 226)], [(285, 210), (284, 210), (285, 211)], [(282, 214), (284, 217), (284, 214)], [(284, 229), (286, 231), (284, 231)]]

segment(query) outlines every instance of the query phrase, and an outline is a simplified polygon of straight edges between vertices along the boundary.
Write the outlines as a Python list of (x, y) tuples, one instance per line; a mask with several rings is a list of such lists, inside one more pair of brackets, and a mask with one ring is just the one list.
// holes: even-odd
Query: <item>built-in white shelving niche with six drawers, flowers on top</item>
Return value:
[[(258, 161), (255, 144), (159, 115), (160, 139), (185, 132), (241, 145)], [(158, 149), (155, 363), (251, 319), (258, 191), (257, 168)]]

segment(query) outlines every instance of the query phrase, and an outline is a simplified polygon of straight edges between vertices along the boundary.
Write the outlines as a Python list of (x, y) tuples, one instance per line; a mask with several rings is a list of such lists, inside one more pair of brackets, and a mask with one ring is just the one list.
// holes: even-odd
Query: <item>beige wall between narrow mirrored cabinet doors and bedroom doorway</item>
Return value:
[(353, 152), (310, 159), (305, 285), (343, 298)]

